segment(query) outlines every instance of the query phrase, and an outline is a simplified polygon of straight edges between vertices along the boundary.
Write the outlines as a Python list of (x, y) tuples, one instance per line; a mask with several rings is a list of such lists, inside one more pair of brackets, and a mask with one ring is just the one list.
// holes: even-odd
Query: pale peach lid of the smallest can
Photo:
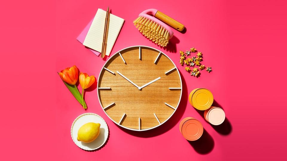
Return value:
[(225, 112), (219, 107), (212, 107), (207, 114), (207, 118), (212, 125), (220, 125), (225, 120)]

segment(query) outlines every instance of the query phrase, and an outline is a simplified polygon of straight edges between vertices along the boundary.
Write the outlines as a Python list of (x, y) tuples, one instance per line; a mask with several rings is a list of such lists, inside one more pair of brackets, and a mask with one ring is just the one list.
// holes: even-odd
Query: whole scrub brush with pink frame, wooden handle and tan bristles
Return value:
[(166, 47), (169, 39), (173, 36), (173, 31), (168, 25), (178, 31), (182, 31), (184, 29), (183, 24), (175, 21), (156, 9), (145, 10), (138, 16), (139, 17), (133, 22), (136, 28), (138, 28), (146, 38), (162, 47)]

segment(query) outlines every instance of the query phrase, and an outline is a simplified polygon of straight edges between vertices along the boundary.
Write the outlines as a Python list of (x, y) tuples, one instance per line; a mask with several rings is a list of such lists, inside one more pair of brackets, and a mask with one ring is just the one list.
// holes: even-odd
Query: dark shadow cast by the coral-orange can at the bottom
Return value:
[(214, 140), (205, 129), (203, 129), (203, 134), (198, 140), (188, 142), (199, 154), (208, 154), (214, 148)]

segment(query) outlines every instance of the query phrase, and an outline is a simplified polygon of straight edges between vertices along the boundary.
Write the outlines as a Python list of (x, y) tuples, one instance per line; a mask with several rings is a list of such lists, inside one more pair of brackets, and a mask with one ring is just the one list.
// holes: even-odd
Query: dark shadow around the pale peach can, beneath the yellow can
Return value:
[[(219, 107), (219, 108), (223, 109), (222, 106), (219, 103), (216, 102), (216, 100), (213, 100), (212, 106)], [(198, 110), (198, 109), (196, 109), (196, 111), (201, 115), (202, 118), (204, 118), (204, 111), (201, 111), (201, 110)], [(220, 124), (220, 125), (212, 125), (212, 124), (210, 124), (210, 126), (213, 127), (213, 129), (216, 132), (218, 132), (219, 134), (222, 134), (222, 135), (229, 135), (231, 133), (231, 131), (232, 131), (232, 125), (231, 125), (231, 123), (230, 123), (230, 121), (228, 120), (227, 117), (225, 117), (225, 120), (224, 120), (224, 122), (222, 124)]]

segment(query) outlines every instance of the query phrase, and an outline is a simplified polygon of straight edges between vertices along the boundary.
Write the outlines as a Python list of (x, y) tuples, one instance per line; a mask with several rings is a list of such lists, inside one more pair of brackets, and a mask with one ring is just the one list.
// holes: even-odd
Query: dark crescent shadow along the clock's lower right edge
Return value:
[[(181, 72), (179, 72), (179, 74), (181, 75)], [(131, 134), (131, 135), (134, 135), (137, 137), (145, 137), (145, 138), (146, 137), (155, 137), (155, 136), (164, 134), (165, 132), (172, 129), (181, 120), (181, 117), (184, 114), (184, 111), (185, 111), (186, 105), (187, 105), (187, 98), (188, 97), (185, 97), (185, 96), (187, 96), (187, 86), (186, 86), (186, 82), (184, 80), (184, 77), (182, 75), (181, 75), (181, 81), (182, 81), (181, 101), (178, 105), (178, 109), (175, 111), (175, 113), (172, 115), (172, 117), (170, 117), (170, 119), (167, 120), (167, 122), (165, 122), (164, 124), (162, 124), (161, 126), (155, 128), (155, 129), (151, 129), (151, 130), (147, 130), (147, 131), (132, 131), (132, 130), (124, 129), (122, 127), (119, 127), (119, 128), (128, 134)]]

